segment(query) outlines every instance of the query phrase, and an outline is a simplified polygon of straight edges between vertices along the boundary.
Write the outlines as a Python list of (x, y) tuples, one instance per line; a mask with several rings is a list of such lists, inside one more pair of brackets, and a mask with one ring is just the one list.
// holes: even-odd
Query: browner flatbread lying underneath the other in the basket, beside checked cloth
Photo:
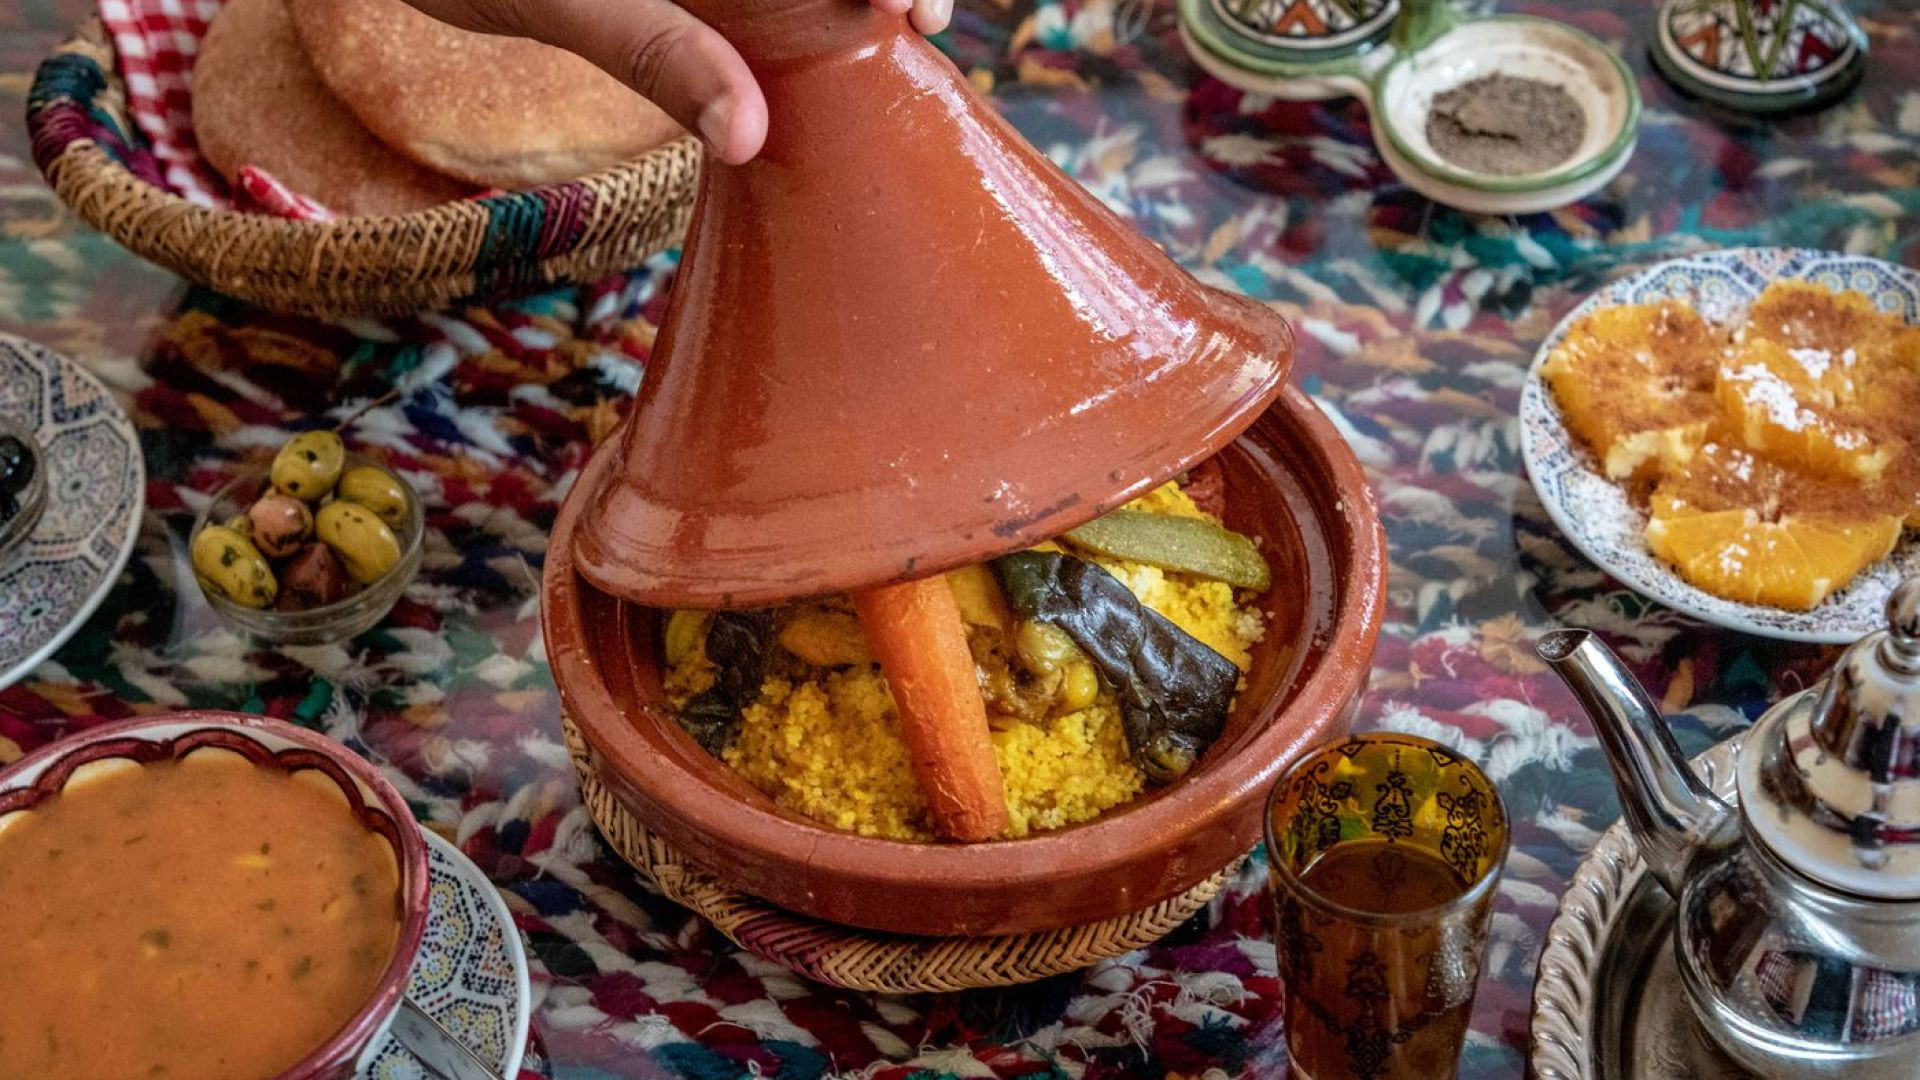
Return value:
[(359, 125), (300, 48), (286, 0), (230, 0), (194, 61), (194, 138), (230, 183), (244, 165), (336, 213), (407, 213), (472, 194)]

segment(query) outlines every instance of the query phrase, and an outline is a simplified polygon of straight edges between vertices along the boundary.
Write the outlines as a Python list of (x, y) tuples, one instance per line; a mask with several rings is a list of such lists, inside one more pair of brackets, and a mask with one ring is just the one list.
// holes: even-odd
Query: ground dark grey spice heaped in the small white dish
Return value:
[(1517, 177), (1572, 158), (1586, 138), (1586, 111), (1551, 83), (1482, 75), (1434, 96), (1427, 142), (1448, 163)]

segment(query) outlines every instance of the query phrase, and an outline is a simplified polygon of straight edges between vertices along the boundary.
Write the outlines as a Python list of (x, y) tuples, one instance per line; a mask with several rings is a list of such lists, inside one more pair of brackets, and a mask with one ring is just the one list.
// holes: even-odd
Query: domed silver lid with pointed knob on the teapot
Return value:
[(1763, 724), (1741, 803), (1766, 844), (1836, 888), (1920, 899), (1920, 577), (1893, 590), (1887, 626), (1849, 646), (1818, 696)]

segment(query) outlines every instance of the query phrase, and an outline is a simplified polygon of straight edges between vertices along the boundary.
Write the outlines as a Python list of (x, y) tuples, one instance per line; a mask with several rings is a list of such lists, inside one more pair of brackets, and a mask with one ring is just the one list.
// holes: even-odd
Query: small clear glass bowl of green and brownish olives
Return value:
[(420, 500), (330, 430), (296, 434), (194, 523), (194, 578), (230, 626), (280, 646), (361, 634), (420, 571)]

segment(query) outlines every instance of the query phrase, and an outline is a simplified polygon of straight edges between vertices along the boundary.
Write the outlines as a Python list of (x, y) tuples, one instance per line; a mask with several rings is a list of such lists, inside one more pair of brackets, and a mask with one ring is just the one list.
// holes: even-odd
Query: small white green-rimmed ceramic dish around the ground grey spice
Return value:
[[(1586, 113), (1586, 136), (1567, 161), (1500, 177), (1461, 169), (1427, 140), (1438, 94), (1486, 75), (1559, 86)], [(1396, 56), (1373, 79), (1373, 140), (1413, 190), (1473, 213), (1538, 213), (1578, 202), (1617, 177), (1634, 156), (1640, 90), (1605, 44), (1551, 19), (1503, 15), (1463, 21)]]

